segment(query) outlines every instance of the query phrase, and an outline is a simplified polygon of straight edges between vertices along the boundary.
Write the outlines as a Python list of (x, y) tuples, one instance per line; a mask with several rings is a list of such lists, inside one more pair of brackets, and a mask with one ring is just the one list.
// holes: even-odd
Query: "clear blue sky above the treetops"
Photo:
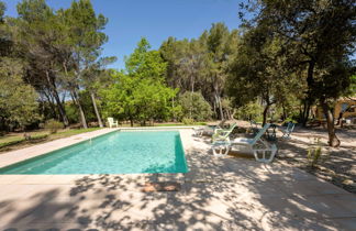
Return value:
[[(16, 16), (20, 0), (3, 0), (5, 15)], [(104, 56), (116, 56), (111, 67), (123, 68), (124, 55), (130, 55), (142, 36), (158, 48), (168, 36), (198, 37), (212, 23), (224, 22), (230, 29), (240, 24), (238, 2), (243, 0), (92, 0), (97, 13), (109, 19), (104, 32), (109, 42)], [(54, 8), (68, 8), (71, 0), (47, 0)]]

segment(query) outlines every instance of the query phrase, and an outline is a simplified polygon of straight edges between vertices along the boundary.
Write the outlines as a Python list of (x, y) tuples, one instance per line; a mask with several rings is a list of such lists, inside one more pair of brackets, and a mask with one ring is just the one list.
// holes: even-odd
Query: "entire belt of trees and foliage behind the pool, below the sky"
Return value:
[(238, 119), (257, 121), (270, 109), (272, 119), (294, 120), (300, 102), (304, 111), (316, 101), (331, 110), (356, 92), (355, 6), (335, 2), (255, 1), (240, 31), (213, 23), (197, 38), (168, 37), (158, 51), (143, 37), (116, 73), (105, 69), (115, 58), (101, 57), (108, 19), (90, 0), (58, 10), (23, 0), (19, 16), (5, 20), (0, 1), (0, 129), (42, 118), (85, 125), (101, 109), (142, 124), (231, 118), (234, 107)]

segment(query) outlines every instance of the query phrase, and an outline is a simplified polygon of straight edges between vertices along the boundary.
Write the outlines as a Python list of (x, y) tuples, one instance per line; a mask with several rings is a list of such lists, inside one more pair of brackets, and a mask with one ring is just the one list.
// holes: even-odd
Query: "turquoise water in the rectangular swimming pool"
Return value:
[(112, 132), (0, 168), (0, 174), (44, 175), (186, 172), (177, 131)]

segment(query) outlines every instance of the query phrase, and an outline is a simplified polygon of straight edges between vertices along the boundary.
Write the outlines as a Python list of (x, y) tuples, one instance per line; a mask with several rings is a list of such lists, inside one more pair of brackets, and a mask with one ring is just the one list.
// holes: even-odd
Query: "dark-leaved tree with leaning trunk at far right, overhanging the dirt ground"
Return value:
[[(355, 51), (353, 0), (256, 1), (258, 11), (251, 24), (268, 28), (282, 37), (288, 63), (307, 69), (308, 99), (318, 99), (327, 121), (329, 144), (338, 146), (331, 103), (347, 87), (348, 57)], [(292, 52), (290, 52), (292, 51)], [(335, 75), (341, 70), (343, 75)], [(335, 76), (334, 76), (335, 75)], [(330, 92), (330, 89), (332, 91)], [(344, 88), (345, 89), (345, 88)]]

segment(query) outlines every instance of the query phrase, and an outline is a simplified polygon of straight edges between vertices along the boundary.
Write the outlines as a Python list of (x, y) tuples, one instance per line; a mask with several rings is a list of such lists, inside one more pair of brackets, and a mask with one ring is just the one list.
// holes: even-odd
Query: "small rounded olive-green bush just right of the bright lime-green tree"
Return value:
[(179, 103), (182, 107), (182, 117), (194, 121), (205, 121), (212, 116), (209, 102), (200, 92), (185, 92), (179, 96)]

